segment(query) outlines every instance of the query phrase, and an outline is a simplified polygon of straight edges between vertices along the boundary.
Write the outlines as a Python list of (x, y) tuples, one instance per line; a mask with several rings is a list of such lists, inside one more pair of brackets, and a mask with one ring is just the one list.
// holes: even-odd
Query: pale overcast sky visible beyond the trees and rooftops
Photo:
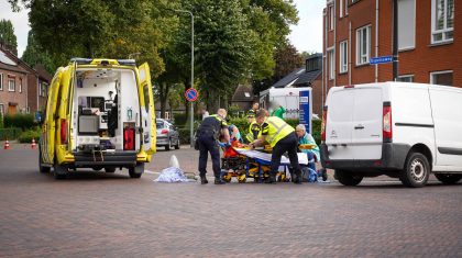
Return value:
[[(290, 43), (298, 52), (322, 52), (322, 9), (326, 0), (294, 0), (299, 21), (290, 26)], [(0, 0), (0, 19), (10, 20), (18, 37), (18, 54), (21, 57), (28, 45), (28, 10), (12, 12), (7, 0)]]

